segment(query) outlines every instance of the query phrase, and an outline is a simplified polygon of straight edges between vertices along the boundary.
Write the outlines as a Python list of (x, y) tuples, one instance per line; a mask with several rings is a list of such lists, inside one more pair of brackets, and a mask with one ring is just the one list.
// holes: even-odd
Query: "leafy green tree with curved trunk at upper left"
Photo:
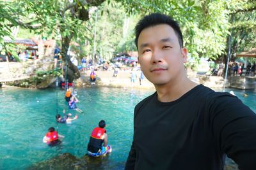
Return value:
[(76, 66), (70, 62), (67, 55), (70, 41), (84, 37), (84, 23), (89, 19), (92, 6), (99, 6), (105, 0), (94, 1), (68, 1), (68, 0), (38, 0), (38, 1), (9, 1), (6, 8), (11, 18), (8, 19), (13, 25), (20, 25), (33, 30), (42, 36), (61, 37), (61, 55), (68, 66), (68, 81), (79, 78), (80, 74)]

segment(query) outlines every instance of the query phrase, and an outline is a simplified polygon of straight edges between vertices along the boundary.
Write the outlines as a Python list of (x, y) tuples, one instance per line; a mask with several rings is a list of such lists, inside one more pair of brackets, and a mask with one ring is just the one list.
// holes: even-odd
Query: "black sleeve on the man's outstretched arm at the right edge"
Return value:
[(236, 96), (218, 94), (209, 106), (212, 133), (241, 170), (256, 169), (256, 115)]

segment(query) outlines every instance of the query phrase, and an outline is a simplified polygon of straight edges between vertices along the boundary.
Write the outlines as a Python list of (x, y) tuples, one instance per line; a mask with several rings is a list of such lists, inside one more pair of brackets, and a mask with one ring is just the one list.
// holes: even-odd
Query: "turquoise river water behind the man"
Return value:
[[(228, 91), (228, 90), (227, 90)], [(233, 90), (237, 97), (256, 111), (256, 93)], [(132, 142), (133, 110), (136, 103), (152, 94), (152, 90), (88, 88), (76, 89), (84, 111), (72, 124), (56, 124), (56, 110), (68, 111), (62, 90), (0, 90), (0, 169), (26, 169), (36, 162), (51, 159), (61, 153), (83, 157), (92, 132), (101, 119), (106, 120), (109, 144), (113, 152), (108, 157), (115, 169), (124, 169)], [(58, 106), (56, 103), (58, 99)], [(49, 127), (58, 128), (65, 136), (60, 146), (42, 143)]]

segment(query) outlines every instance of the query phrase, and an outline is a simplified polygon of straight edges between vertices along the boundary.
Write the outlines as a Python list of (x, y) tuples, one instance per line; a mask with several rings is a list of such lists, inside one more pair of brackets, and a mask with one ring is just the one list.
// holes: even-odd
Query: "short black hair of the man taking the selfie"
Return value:
[(138, 22), (138, 24), (135, 27), (135, 45), (138, 49), (138, 38), (140, 36), (141, 31), (143, 29), (146, 29), (148, 27), (153, 27), (159, 24), (167, 24), (170, 25), (170, 27), (173, 28), (175, 31), (175, 34), (177, 35), (179, 39), (180, 48), (183, 47), (183, 38), (182, 38), (182, 32), (180, 31), (180, 26), (177, 21), (173, 20), (172, 17), (169, 17), (168, 15), (164, 15), (161, 13), (151, 13), (150, 15), (147, 15)]

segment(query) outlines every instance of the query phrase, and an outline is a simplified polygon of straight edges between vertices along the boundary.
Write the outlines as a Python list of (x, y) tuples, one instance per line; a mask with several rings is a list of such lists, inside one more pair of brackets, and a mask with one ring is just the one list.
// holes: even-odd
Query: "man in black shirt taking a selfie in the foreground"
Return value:
[(153, 13), (135, 28), (138, 62), (156, 92), (134, 109), (125, 169), (223, 169), (225, 154), (256, 169), (256, 115), (236, 97), (186, 76), (180, 27)]

